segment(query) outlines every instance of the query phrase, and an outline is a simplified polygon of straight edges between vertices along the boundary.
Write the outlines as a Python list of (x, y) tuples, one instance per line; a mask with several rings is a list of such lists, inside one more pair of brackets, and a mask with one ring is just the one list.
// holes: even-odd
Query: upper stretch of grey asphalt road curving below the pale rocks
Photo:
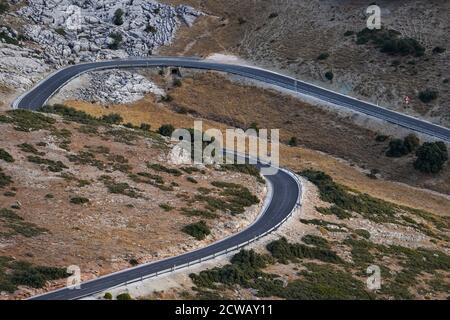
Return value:
[(278, 87), (289, 89), (298, 93), (312, 96), (337, 106), (364, 113), (366, 115), (388, 121), (390, 123), (430, 135), (434, 138), (450, 142), (450, 130), (430, 122), (420, 120), (391, 111), (367, 102), (363, 102), (339, 93), (326, 90), (315, 85), (296, 80), (272, 71), (255, 67), (217, 63), (209, 60), (185, 57), (152, 57), (145, 59), (110, 60), (78, 64), (61, 69), (46, 78), (31, 91), (13, 102), (14, 108), (36, 109), (44, 105), (64, 84), (82, 73), (113, 68), (140, 68), (140, 67), (185, 67), (227, 72), (260, 80)]

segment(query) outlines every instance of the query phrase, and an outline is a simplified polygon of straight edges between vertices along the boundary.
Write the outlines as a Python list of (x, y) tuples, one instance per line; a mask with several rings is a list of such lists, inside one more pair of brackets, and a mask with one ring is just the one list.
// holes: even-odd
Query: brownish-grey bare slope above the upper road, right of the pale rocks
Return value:
[[(390, 56), (374, 46), (357, 45), (354, 35), (344, 36), (346, 31), (366, 27), (367, 1), (345, 0), (338, 5), (331, 0), (165, 2), (187, 3), (208, 15), (193, 28), (183, 28), (175, 43), (162, 48), (160, 54), (234, 54), (344, 94), (450, 125), (446, 107), (450, 99), (450, 51), (446, 48), (450, 5), (445, 0), (377, 1), (382, 26), (419, 41), (426, 48), (421, 58)], [(438, 46), (447, 50), (434, 54)], [(322, 53), (329, 57), (319, 61)], [(330, 70), (333, 81), (324, 76)], [(437, 90), (438, 99), (421, 102), (418, 93), (426, 88)], [(409, 105), (404, 104), (405, 96), (411, 98)]]

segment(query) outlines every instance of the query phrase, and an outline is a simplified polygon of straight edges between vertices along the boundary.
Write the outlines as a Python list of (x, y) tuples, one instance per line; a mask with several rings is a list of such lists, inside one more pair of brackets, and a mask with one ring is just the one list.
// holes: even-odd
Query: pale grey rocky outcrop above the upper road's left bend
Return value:
[(188, 6), (142, 0), (7, 2), (0, 22), (0, 86), (13, 90), (67, 64), (151, 55), (174, 39), (180, 25), (201, 15)]

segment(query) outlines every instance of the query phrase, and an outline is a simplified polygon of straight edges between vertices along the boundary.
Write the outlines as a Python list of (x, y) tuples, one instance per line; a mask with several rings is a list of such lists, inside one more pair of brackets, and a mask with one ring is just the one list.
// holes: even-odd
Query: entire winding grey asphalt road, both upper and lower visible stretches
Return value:
[[(249, 66), (216, 63), (196, 58), (155, 57), (102, 61), (69, 66), (53, 73), (32, 90), (19, 97), (13, 102), (13, 107), (33, 110), (37, 109), (45, 105), (47, 101), (71, 79), (88, 71), (141, 67), (185, 67), (236, 74), (310, 95), (323, 101), (338, 106), (344, 106), (375, 118), (386, 120), (411, 130), (450, 142), (450, 130), (423, 120), (396, 113), (271, 71)], [(259, 166), (262, 166), (262, 164), (259, 164)], [(145, 278), (146, 276), (157, 272), (167, 271), (171, 268), (188, 263), (194, 263), (199, 259), (211, 258), (211, 256), (220, 254), (225, 250), (232, 250), (237, 246), (245, 245), (247, 242), (276, 228), (290, 216), (296, 207), (300, 205), (300, 185), (291, 173), (285, 170), (278, 170), (276, 175), (266, 176), (266, 179), (270, 183), (272, 190), (270, 203), (265, 207), (259, 219), (240, 233), (193, 252), (141, 265), (82, 283), (80, 289), (64, 288), (33, 297), (32, 299), (67, 300), (83, 298), (120, 284), (134, 282), (142, 277)]]

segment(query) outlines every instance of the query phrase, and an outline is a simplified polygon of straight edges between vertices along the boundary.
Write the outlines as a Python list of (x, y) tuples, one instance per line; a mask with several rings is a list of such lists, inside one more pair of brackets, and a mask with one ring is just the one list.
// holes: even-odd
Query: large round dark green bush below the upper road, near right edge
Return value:
[(424, 173), (438, 173), (448, 160), (447, 146), (444, 142), (425, 142), (416, 152), (414, 168)]

